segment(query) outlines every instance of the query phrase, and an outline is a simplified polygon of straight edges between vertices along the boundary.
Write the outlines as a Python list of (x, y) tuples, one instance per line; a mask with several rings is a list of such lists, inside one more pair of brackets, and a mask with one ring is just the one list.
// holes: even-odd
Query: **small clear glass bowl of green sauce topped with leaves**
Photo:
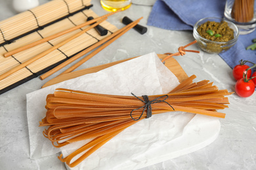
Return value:
[(203, 18), (196, 22), (193, 36), (198, 46), (210, 54), (225, 52), (238, 41), (239, 30), (236, 24), (223, 18)]

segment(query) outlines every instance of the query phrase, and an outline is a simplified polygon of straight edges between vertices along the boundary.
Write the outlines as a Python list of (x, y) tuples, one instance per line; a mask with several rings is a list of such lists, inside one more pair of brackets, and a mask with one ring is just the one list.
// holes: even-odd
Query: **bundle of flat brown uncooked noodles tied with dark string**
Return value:
[[(55, 147), (91, 139), (66, 158), (59, 159), (75, 167), (125, 128), (163, 112), (192, 112), (224, 118), (217, 112), (227, 108), (228, 90), (219, 90), (213, 82), (193, 82), (186, 78), (163, 95), (106, 95), (59, 88), (47, 96), (46, 116), (40, 126), (49, 126), (43, 135)], [(170, 113), (171, 114), (171, 113)], [(79, 154), (79, 158), (74, 158)], [(81, 155), (81, 156), (80, 156)]]

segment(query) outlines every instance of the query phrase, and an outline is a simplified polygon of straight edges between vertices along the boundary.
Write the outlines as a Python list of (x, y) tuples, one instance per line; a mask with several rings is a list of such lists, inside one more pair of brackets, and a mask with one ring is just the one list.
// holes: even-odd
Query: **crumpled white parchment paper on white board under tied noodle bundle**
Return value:
[[(178, 84), (177, 77), (161, 63), (155, 53), (150, 53), (97, 73), (80, 76), (28, 93), (30, 156), (37, 159), (60, 151), (67, 156), (86, 143), (86, 141), (80, 141), (58, 149), (43, 137), (42, 131), (45, 127), (38, 127), (39, 121), (45, 116), (46, 96), (53, 93), (56, 88), (116, 95), (131, 95), (133, 92), (139, 96), (167, 93)], [(204, 134), (205, 126), (214, 129), (212, 133), (208, 131)], [(191, 135), (191, 129), (195, 127), (204, 135), (196, 137), (195, 135), (200, 134), (199, 132)], [(215, 140), (219, 128), (219, 120), (208, 116), (194, 116), (194, 114), (183, 112), (154, 115), (152, 118), (142, 120), (125, 129), (73, 169), (138, 169), (206, 146)], [(192, 141), (182, 142), (182, 138), (188, 136)], [(174, 145), (177, 144), (175, 148), (173, 148), (173, 142)]]

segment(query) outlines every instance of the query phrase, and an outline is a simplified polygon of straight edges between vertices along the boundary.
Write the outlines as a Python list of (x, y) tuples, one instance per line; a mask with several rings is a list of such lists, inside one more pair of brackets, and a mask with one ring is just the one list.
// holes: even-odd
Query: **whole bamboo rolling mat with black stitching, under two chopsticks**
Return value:
[[(83, 24), (89, 16), (97, 18), (98, 15), (90, 7), (92, 7), (91, 0), (54, 0), (1, 21), (0, 75), (89, 27), (87, 25), (10, 57), (4, 58), (3, 56), (6, 52)], [(104, 21), (100, 25), (108, 29), (107, 35), (100, 36), (95, 29), (90, 29), (43, 58), (37, 59), (27, 67), (0, 80), (0, 94), (49, 71), (66, 59), (72, 58), (75, 54), (117, 31), (117, 27), (109, 22)]]

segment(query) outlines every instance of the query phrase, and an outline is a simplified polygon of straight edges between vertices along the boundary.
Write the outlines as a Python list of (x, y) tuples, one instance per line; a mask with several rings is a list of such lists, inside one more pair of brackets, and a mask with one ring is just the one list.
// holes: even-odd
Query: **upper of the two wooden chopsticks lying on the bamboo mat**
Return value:
[(111, 13), (109, 13), (109, 14), (106, 14), (106, 15), (104, 15), (104, 16), (100, 16), (100, 17), (98, 17), (98, 18), (95, 18), (95, 19), (90, 20), (90, 21), (88, 21), (88, 22), (85, 22), (85, 23), (83, 23), (83, 24), (77, 25), (77, 26), (72, 27), (72, 28), (70, 28), (70, 29), (66, 29), (66, 30), (64, 30), (64, 31), (61, 31), (60, 33), (56, 33), (56, 34), (51, 35), (51, 36), (49, 36), (49, 37), (45, 37), (44, 39), (40, 39), (39, 41), (35, 41), (35, 42), (32, 42), (32, 43), (27, 44), (27, 45), (25, 45), (25, 46), (22, 46), (22, 47), (20, 47), (20, 48), (16, 48), (15, 50), (12, 50), (12, 51), (10, 51), (10, 52), (7, 52), (7, 53), (3, 54), (3, 56), (5, 56), (5, 58), (7, 58), (7, 57), (9, 57), (9, 56), (12, 56), (13, 54), (16, 54), (16, 53), (18, 53), (18, 52), (21, 52), (21, 51), (23, 51), (23, 50), (26, 50), (26, 49), (28, 49), (28, 48), (32, 48), (33, 46), (37, 46), (37, 45), (39, 45), (39, 44), (41, 44), (41, 43), (43, 43), (43, 42), (50, 41), (50, 40), (52, 40), (52, 39), (55, 39), (56, 37), (60, 37), (61, 35), (64, 35), (64, 34), (66, 34), (66, 33), (70, 33), (70, 32), (72, 32), (72, 31), (74, 31), (74, 30), (76, 30), (76, 29), (79, 29), (79, 28), (81, 28), (81, 27), (84, 27), (84, 26), (86, 26), (86, 25), (93, 24), (93, 23), (97, 22), (98, 20), (102, 20), (103, 18), (107, 18), (108, 16), (111, 16), (112, 14), (116, 14), (116, 13), (119, 12), (119, 11), (121, 11), (121, 10), (117, 10), (116, 12), (111, 12)]

